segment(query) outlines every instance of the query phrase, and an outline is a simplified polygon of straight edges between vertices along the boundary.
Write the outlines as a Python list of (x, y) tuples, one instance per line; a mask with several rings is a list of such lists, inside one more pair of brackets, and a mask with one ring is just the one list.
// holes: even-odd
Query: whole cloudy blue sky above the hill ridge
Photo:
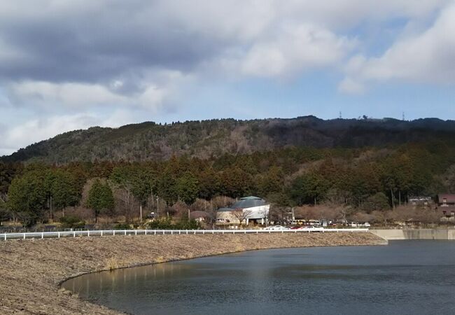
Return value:
[(95, 125), (455, 120), (454, 0), (0, 0), (0, 155)]

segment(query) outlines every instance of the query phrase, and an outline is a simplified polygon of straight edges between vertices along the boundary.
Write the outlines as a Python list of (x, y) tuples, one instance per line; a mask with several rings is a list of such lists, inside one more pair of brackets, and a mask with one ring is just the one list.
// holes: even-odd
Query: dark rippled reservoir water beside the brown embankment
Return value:
[(455, 241), (250, 251), (63, 286), (130, 314), (455, 314)]

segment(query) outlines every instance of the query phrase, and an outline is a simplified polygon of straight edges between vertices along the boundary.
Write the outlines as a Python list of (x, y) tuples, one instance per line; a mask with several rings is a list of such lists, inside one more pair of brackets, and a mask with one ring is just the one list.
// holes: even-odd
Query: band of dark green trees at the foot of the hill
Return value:
[(214, 200), (246, 195), (277, 208), (336, 204), (368, 214), (394, 209), (411, 196), (455, 193), (454, 153), (452, 146), (431, 142), (147, 162), (0, 162), (0, 219), (34, 225), (85, 207), (94, 221), (120, 214), (129, 223), (137, 211), (172, 216), (191, 205), (213, 210), (219, 205)]

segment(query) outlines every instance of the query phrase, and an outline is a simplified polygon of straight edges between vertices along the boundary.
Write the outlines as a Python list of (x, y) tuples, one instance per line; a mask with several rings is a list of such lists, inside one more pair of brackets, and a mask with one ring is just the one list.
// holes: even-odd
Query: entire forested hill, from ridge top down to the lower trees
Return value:
[[(327, 204), (331, 214), (311, 216), (376, 211), (384, 221), (386, 210), (409, 197), (441, 192), (455, 193), (455, 123), (436, 119), (93, 127), (0, 160), (0, 221), (23, 225), (64, 214), (130, 222), (139, 209), (185, 217), (188, 209), (214, 211), (246, 195), (264, 197), (274, 214)], [(437, 222), (428, 211), (425, 220)]]

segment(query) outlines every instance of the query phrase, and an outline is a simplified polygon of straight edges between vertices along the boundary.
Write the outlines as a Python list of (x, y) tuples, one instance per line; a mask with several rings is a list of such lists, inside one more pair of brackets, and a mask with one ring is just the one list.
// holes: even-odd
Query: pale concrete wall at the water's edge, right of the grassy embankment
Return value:
[(388, 241), (395, 239), (455, 240), (455, 230), (449, 229), (370, 230), (370, 232)]

